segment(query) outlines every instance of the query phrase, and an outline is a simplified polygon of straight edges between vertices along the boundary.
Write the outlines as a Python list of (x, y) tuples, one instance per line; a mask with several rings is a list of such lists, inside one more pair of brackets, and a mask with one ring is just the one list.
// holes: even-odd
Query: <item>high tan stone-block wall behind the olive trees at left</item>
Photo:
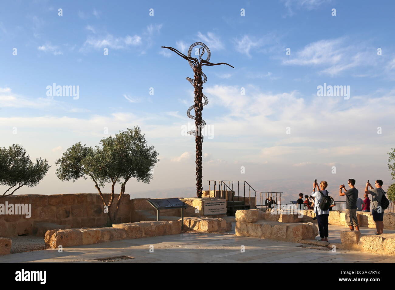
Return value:
[[(117, 200), (118, 194), (114, 200)], [(109, 200), (110, 194), (104, 194)], [(60, 195), (11, 195), (0, 198), (0, 204), (31, 204), (31, 217), (25, 215), (0, 215), (0, 236), (12, 237), (34, 234), (37, 224), (53, 223), (71, 228), (103, 227), (109, 223), (99, 194), (77, 193)], [(115, 202), (110, 207), (114, 210)], [(128, 194), (122, 195), (117, 211), (117, 223), (128, 223), (132, 216), (132, 202)]]

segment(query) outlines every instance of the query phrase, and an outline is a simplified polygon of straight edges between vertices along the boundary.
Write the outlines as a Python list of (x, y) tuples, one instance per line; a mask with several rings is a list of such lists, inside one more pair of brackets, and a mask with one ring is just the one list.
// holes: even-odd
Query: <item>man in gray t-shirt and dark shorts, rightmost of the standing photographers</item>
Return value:
[[(373, 221), (374, 223), (376, 223), (377, 234), (381, 235), (384, 230), (384, 210), (381, 208), (381, 199), (384, 195), (384, 190), (381, 188), (383, 185), (383, 181), (378, 179), (374, 182), (374, 185), (376, 186), (376, 188), (373, 189), (372, 185), (369, 182), (366, 183), (365, 193), (372, 195), (371, 205)], [(371, 187), (371, 190), (368, 189), (369, 186)]]

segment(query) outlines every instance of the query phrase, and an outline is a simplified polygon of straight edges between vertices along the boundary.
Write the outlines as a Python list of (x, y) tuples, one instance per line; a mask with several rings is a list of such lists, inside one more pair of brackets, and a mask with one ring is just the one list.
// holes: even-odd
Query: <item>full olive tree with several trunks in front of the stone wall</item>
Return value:
[[(158, 152), (154, 146), (148, 146), (145, 135), (139, 127), (120, 131), (115, 136), (100, 140), (101, 146), (87, 147), (78, 142), (63, 153), (63, 157), (56, 161), (59, 165), (56, 175), (62, 181), (73, 182), (79, 178), (90, 178), (103, 204), (108, 208), (111, 222), (116, 219), (119, 200), (125, 193), (126, 183), (135, 178), (137, 181), (149, 183), (152, 179), (152, 168), (159, 161)], [(105, 201), (102, 187), (111, 184), (110, 200)], [(120, 184), (120, 193), (116, 200), (115, 210), (111, 214), (110, 206), (114, 202), (115, 185)]]

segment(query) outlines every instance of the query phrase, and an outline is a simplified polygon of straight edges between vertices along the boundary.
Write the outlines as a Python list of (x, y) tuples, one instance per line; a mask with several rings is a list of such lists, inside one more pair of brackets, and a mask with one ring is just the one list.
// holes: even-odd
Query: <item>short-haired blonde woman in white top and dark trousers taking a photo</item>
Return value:
[[(328, 241), (329, 209), (322, 210), (320, 208), (321, 200), (324, 198), (324, 196), (328, 195), (328, 191), (325, 190), (325, 188), (327, 188), (327, 186), (328, 186), (328, 183), (323, 180), (320, 182), (320, 185), (318, 185), (317, 182), (314, 181), (313, 186), (314, 186), (314, 189), (313, 189), (311, 196), (314, 197), (314, 213), (316, 214), (316, 218), (317, 218), (317, 222), (318, 222), (318, 231), (320, 232), (321, 241)], [(318, 191), (316, 191), (316, 187), (319, 188)]]

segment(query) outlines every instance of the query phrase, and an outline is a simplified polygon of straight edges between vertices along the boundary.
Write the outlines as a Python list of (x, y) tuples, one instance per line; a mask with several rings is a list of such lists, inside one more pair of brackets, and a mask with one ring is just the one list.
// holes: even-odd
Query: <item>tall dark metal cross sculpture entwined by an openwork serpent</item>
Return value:
[[(196, 45), (201, 46), (201, 47), (199, 47), (199, 51), (198, 51), (199, 59), (191, 57), (192, 49)], [(201, 150), (202, 150), (202, 146), (203, 146), (203, 135), (201, 134), (201, 129), (203, 129), (203, 127), (206, 125), (206, 122), (204, 122), (204, 120), (201, 118), (201, 111), (203, 110), (203, 106), (205, 106), (209, 103), (209, 100), (207, 99), (205, 94), (203, 94), (203, 92), (202, 92), (203, 84), (207, 81), (207, 77), (203, 73), (203, 71), (201, 71), (201, 67), (203, 65), (220, 65), (220, 64), (226, 64), (226, 63), (220, 62), (218, 64), (213, 64), (213, 63), (209, 62), (210, 55), (211, 55), (210, 50), (207, 47), (207, 45), (205, 45), (202, 42), (195, 42), (194, 44), (192, 44), (189, 47), (188, 56), (186, 56), (185, 54), (182, 54), (181, 52), (177, 51), (177, 49), (174, 49), (173, 47), (166, 47), (166, 46), (162, 46), (162, 47), (170, 49), (171, 51), (174, 51), (182, 58), (188, 60), (189, 65), (194, 70), (194, 79), (187, 77), (186, 80), (188, 80), (192, 84), (192, 86), (194, 86), (194, 88), (195, 88), (195, 90), (194, 90), (195, 105), (189, 107), (186, 114), (188, 115), (189, 118), (195, 120), (195, 130), (188, 131), (188, 134), (195, 136), (195, 142), (196, 142), (196, 195), (198, 196), (198, 198), (201, 198), (202, 191), (203, 191), (202, 174), (201, 174), (202, 168), (203, 168), (202, 156), (201, 156)], [(204, 60), (201, 57), (203, 56), (205, 51), (207, 51), (207, 58)], [(233, 67), (230, 64), (226, 64), (226, 65)], [(202, 80), (202, 77), (203, 77), (203, 80)], [(204, 103), (202, 103), (203, 99), (204, 99)], [(190, 114), (192, 109), (195, 110), (195, 116), (192, 116)]]

